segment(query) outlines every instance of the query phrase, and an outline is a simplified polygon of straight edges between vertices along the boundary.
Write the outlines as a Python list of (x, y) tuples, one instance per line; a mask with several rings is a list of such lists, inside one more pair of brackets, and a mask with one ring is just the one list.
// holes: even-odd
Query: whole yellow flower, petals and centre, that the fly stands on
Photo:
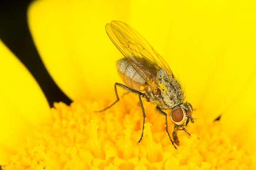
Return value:
[[(6, 169), (255, 169), (253, 3), (33, 2), (28, 9), (33, 40), (74, 103), (48, 111), (35, 80), (1, 43), (6, 57), (0, 68), (7, 75), (1, 83), (0, 163), (8, 163)], [(164, 118), (148, 102), (145, 136), (136, 144), (142, 126), (136, 96), (92, 112), (115, 100), (113, 84), (121, 82), (115, 61), (122, 56), (104, 30), (111, 20), (129, 23), (151, 43), (196, 108), (198, 119), (188, 127), (192, 136), (179, 132), (177, 150), (163, 130)]]

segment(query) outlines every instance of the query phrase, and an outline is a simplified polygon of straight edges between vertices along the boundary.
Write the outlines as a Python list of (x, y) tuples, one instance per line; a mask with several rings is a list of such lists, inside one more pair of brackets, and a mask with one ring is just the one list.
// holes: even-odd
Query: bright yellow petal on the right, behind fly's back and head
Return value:
[[(186, 99), (207, 113), (197, 118), (240, 114), (224, 113), (231, 107), (253, 109), (255, 89), (248, 83), (256, 67), (254, 1), (145, 0), (133, 1), (131, 9), (130, 24), (169, 63)], [(243, 102), (235, 105), (235, 100)]]

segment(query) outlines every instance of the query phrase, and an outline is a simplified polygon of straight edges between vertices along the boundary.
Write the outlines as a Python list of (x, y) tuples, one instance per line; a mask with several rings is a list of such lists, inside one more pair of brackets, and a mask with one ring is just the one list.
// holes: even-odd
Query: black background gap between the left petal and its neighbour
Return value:
[(0, 1), (0, 38), (31, 72), (51, 107), (54, 102), (60, 101), (69, 105), (72, 100), (59, 89), (47, 72), (29, 32), (27, 8), (31, 1)]

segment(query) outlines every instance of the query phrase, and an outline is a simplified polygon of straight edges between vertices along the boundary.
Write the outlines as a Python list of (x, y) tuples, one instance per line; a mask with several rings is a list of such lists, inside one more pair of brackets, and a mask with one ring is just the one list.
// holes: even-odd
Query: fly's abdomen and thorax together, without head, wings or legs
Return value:
[(127, 59), (117, 61), (117, 70), (128, 87), (140, 92), (145, 91), (150, 102), (161, 109), (172, 109), (183, 102), (184, 95), (179, 82), (164, 70), (159, 69), (155, 75), (156, 92), (148, 86), (146, 78), (141, 76), (142, 71), (135, 69)]

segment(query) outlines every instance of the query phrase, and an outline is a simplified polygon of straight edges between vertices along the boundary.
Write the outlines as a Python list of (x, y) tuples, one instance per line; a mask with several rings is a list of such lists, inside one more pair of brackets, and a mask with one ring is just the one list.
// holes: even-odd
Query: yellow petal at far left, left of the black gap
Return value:
[(28, 70), (0, 41), (0, 165), (23, 145), (26, 134), (49, 118), (49, 105)]

